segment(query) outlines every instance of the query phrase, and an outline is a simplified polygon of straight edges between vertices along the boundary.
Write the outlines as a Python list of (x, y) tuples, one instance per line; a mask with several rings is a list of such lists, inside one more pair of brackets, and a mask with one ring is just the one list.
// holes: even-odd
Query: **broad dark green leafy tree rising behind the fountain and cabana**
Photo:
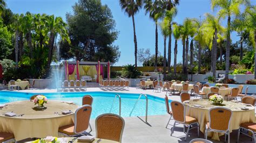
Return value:
[(109, 7), (99, 0), (79, 0), (72, 8), (66, 15), (71, 44), (60, 42), (62, 59), (117, 62), (120, 52), (113, 42), (118, 31)]

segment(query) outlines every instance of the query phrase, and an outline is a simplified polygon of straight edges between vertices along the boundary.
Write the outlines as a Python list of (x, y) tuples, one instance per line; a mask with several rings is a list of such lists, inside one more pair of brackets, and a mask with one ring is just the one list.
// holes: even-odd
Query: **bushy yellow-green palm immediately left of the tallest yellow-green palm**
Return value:
[[(204, 31), (207, 32), (208, 39), (212, 40), (212, 72), (213, 77), (216, 76), (216, 60), (217, 60), (217, 39), (218, 31), (223, 31), (223, 27), (220, 25), (220, 18), (216, 18), (213, 15), (206, 13), (206, 19), (203, 24)], [(207, 36), (206, 36), (207, 37)], [(211, 41), (208, 40), (208, 41)], [(209, 43), (209, 42), (208, 42)]]

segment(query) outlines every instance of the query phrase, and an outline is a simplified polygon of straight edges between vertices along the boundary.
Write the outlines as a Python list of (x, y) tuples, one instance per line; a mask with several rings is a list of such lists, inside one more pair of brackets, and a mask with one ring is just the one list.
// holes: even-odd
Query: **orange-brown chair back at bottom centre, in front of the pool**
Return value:
[(125, 121), (121, 116), (105, 113), (95, 120), (96, 138), (122, 142)]

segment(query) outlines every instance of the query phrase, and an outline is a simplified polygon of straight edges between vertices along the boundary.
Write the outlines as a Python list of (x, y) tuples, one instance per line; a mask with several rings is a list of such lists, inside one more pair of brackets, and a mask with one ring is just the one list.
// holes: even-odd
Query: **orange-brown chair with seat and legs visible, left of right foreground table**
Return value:
[[(173, 127), (172, 127), (171, 136), (174, 132), (174, 127), (175, 127), (176, 123), (178, 123), (178, 124), (183, 124), (184, 125), (183, 126), (184, 131), (185, 131), (185, 126), (187, 126), (187, 133), (186, 133), (185, 141), (187, 140), (188, 132), (192, 128), (197, 127), (197, 132), (198, 132), (198, 137), (199, 137), (199, 123), (198, 123), (198, 120), (196, 118), (186, 116), (185, 105), (181, 102), (178, 102), (178, 101), (172, 101), (171, 102), (171, 109), (172, 109), (172, 115), (173, 115), (173, 119), (174, 119), (174, 124), (173, 124)], [(197, 126), (192, 127), (191, 125), (197, 125)]]

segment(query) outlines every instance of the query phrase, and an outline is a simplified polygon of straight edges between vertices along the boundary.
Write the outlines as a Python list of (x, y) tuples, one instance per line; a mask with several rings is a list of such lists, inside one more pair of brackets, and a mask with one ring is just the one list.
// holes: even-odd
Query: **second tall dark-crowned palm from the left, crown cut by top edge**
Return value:
[(149, 13), (151, 19), (154, 20), (156, 24), (156, 53), (155, 53), (155, 61), (154, 61), (154, 70), (157, 71), (157, 55), (158, 55), (158, 30), (157, 30), (157, 22), (158, 19), (163, 17), (164, 9), (163, 9), (163, 1), (158, 0), (145, 0), (144, 1), (144, 9), (146, 10), (146, 14)]

